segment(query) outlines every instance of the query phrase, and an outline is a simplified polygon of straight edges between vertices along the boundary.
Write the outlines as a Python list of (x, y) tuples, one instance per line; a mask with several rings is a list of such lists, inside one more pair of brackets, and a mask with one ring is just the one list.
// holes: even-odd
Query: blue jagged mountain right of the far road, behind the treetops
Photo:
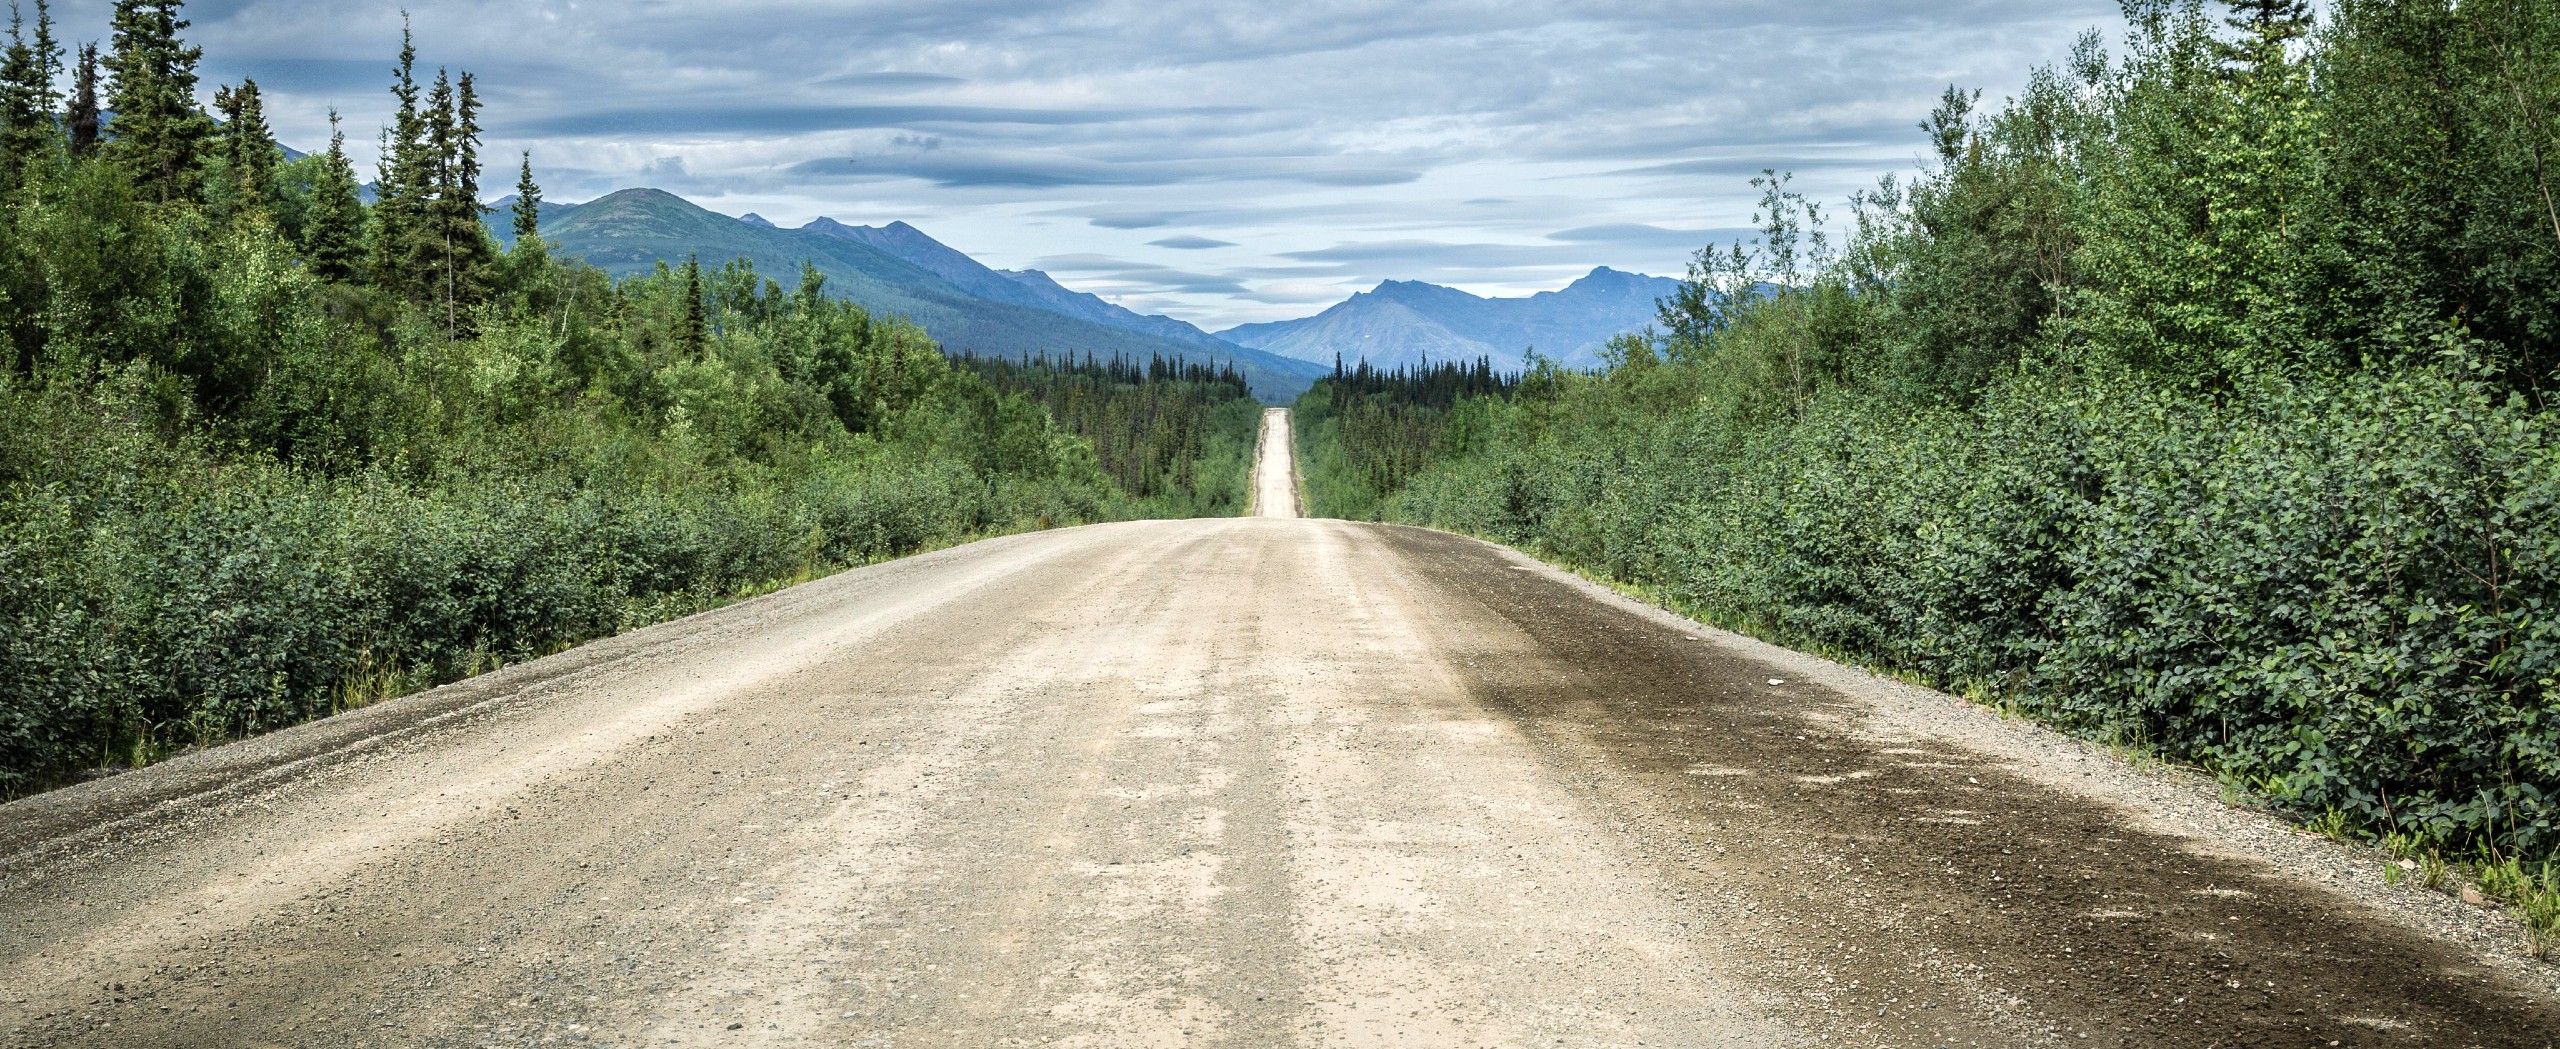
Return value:
[(1521, 368), (1526, 351), (1564, 366), (1600, 363), (1610, 335), (1654, 322), (1654, 302), (1679, 281), (1669, 276), (1592, 269), (1562, 292), (1521, 299), (1485, 299), (1454, 287), (1385, 281), (1300, 320), (1242, 325), (1219, 338), (1285, 358), (1331, 366), (1367, 358), (1395, 368), (1431, 361), (1492, 358), (1495, 368)]

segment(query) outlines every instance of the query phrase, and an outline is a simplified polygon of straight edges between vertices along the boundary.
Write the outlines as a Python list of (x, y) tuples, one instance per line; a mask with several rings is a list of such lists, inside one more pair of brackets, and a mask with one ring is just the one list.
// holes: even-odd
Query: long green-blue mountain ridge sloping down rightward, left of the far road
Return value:
[[(507, 225), (507, 212), (497, 210), (489, 225)], [(758, 274), (796, 284), (806, 261), (827, 276), (829, 294), (914, 320), (950, 353), (1234, 361), (1267, 402), (1288, 402), (1324, 374), (1308, 361), (1224, 343), (1167, 317), (1139, 317), (1055, 281), (1055, 292), (1039, 292), (906, 223), (868, 228), (817, 220), (783, 230), (760, 217), (750, 223), (709, 212), (663, 189), (620, 189), (576, 207), (553, 210), (545, 202), (543, 241), (614, 276), (699, 256), (712, 266), (745, 258)]]

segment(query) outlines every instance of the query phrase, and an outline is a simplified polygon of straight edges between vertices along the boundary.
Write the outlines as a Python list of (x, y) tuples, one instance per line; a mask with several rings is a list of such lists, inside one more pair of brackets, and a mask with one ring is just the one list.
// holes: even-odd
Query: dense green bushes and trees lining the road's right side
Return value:
[(2550, 857), (2560, 10), (2127, 15), (2120, 54), (2086, 38), (1997, 110), (1951, 90), (1935, 161), (1843, 241), (1759, 179), (1761, 238), (1700, 253), (1603, 374), (1539, 368), (1439, 435), (1318, 422), (1344, 448), (1308, 461), (1423, 448), (1380, 517), (2332, 829)]

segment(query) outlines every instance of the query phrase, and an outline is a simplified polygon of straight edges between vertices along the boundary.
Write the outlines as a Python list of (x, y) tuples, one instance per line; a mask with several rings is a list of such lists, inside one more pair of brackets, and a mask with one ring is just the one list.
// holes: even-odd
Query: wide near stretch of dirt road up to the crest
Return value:
[(2074, 755), (1441, 532), (1016, 535), (0, 808), (0, 1044), (2555, 1041)]

